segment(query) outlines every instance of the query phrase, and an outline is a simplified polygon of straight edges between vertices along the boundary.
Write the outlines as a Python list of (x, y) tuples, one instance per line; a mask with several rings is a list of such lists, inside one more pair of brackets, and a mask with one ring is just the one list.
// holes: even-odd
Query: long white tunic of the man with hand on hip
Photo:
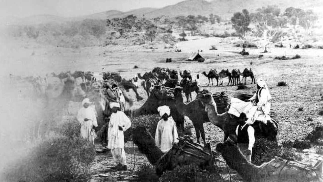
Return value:
[[(123, 131), (119, 130), (119, 126)], [(117, 113), (112, 113), (109, 122), (108, 129), (108, 148), (123, 148), (124, 147), (124, 137), (123, 132), (128, 130), (131, 126), (131, 121), (126, 114), (122, 111)]]

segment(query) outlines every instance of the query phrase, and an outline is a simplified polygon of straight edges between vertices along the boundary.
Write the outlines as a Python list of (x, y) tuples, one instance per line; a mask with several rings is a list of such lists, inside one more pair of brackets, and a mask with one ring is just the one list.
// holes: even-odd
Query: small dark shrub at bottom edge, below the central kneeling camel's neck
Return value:
[(141, 182), (159, 182), (155, 168), (149, 164), (141, 165), (139, 171), (137, 171), (137, 175)]

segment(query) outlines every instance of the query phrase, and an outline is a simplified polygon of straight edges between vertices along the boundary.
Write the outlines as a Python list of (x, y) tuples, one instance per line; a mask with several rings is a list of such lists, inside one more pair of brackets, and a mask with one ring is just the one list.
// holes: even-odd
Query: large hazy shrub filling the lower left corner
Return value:
[[(62, 126), (77, 128), (75, 123), (69, 121)], [(27, 158), (8, 168), (6, 180), (88, 181), (91, 177), (90, 165), (95, 157), (94, 145), (74, 132), (61, 127), (58, 133), (65, 134), (47, 136), (30, 151)]]

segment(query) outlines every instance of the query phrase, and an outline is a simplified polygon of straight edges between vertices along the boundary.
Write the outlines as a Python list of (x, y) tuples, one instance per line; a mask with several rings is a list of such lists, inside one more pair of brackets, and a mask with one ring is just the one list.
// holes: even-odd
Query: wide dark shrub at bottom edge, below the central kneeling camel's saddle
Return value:
[(224, 181), (221, 176), (216, 173), (202, 170), (196, 165), (177, 166), (172, 171), (166, 171), (161, 176), (161, 181), (167, 182), (221, 182)]

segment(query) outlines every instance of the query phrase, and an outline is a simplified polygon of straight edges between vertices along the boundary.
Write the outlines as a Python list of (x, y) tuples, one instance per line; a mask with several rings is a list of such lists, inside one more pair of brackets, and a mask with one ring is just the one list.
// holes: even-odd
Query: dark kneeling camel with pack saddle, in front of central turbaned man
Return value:
[(214, 169), (214, 158), (210, 144), (204, 149), (189, 137), (179, 137), (179, 142), (174, 144), (166, 154), (155, 145), (151, 133), (143, 125), (139, 125), (132, 131), (133, 142), (141, 153), (147, 156), (148, 161), (156, 166), (156, 173), (161, 175), (166, 170), (172, 170), (178, 165), (196, 164), (202, 169)]

